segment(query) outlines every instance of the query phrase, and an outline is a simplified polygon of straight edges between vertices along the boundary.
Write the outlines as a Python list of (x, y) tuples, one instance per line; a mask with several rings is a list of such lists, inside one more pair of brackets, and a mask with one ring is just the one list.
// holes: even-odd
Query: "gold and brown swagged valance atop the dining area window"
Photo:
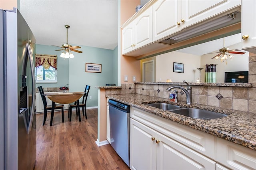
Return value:
[(44, 69), (52, 67), (57, 70), (57, 55), (36, 54), (35, 65), (36, 68), (42, 65)]

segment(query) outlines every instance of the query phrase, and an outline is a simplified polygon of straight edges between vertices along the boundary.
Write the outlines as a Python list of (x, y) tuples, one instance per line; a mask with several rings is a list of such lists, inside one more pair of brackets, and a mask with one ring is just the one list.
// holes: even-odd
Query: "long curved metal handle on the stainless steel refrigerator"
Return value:
[(35, 71), (34, 71), (34, 61), (33, 61), (33, 55), (31, 52), (30, 45), (27, 43), (26, 44), (26, 50), (28, 52), (28, 58), (30, 61), (30, 69), (31, 69), (31, 75), (32, 75), (32, 106), (31, 106), (31, 111), (30, 111), (30, 118), (29, 118), (29, 124), (28, 124), (28, 134), (32, 128), (32, 123), (34, 119), (34, 111), (35, 111), (35, 101), (36, 101), (36, 79), (35, 79)]

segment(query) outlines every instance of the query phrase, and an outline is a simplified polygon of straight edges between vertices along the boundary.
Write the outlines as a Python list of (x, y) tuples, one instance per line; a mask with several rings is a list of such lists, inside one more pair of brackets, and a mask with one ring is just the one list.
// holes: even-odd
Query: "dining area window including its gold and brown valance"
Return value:
[(36, 54), (36, 83), (57, 82), (57, 56)]

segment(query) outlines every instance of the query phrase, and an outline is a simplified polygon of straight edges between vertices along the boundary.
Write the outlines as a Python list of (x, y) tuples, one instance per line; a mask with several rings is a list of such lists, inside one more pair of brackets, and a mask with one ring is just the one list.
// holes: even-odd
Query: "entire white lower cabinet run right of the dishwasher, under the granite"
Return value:
[(130, 169), (256, 170), (256, 150), (131, 107)]

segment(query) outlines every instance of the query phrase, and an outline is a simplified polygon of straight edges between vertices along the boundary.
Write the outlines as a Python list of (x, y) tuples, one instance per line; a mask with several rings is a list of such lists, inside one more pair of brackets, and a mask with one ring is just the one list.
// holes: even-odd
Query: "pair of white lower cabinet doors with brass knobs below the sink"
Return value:
[(213, 160), (131, 119), (132, 170), (215, 170)]

